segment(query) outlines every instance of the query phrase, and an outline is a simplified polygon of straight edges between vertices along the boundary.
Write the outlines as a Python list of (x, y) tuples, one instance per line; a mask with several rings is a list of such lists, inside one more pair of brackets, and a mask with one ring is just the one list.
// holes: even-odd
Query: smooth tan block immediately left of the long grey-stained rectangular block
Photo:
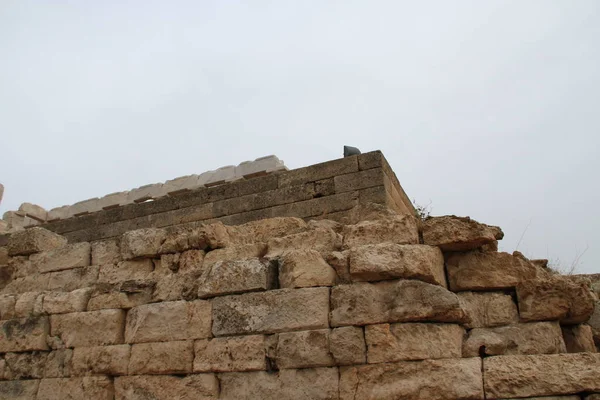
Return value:
[(173, 301), (145, 304), (127, 313), (127, 343), (204, 339), (211, 336), (211, 303)]

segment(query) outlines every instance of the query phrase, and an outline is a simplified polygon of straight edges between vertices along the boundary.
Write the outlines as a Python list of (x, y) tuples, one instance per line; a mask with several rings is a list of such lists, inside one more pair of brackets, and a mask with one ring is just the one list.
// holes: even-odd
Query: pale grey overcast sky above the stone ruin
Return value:
[(599, 21), (598, 0), (2, 0), (0, 212), (349, 144), (502, 250), (600, 272)]

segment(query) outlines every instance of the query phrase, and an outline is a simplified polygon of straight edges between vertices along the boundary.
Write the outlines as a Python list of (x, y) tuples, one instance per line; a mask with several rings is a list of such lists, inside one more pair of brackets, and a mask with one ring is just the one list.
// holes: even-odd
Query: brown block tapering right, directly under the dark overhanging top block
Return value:
[(529, 261), (508, 253), (472, 251), (446, 259), (450, 290), (494, 290), (513, 288), (519, 282), (545, 275)]

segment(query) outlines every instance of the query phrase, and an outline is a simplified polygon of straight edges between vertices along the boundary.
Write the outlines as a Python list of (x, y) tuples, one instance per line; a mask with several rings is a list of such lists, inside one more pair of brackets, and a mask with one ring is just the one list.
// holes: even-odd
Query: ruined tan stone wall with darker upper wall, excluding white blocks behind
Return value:
[(152, 200), (0, 235), (1, 399), (600, 399), (600, 275), (421, 220), (380, 152)]

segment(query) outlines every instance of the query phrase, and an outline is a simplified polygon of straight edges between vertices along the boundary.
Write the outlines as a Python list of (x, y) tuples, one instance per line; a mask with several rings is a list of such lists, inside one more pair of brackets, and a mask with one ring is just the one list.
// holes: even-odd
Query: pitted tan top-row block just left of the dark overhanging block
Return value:
[(361, 221), (344, 227), (344, 248), (391, 242), (418, 244), (417, 219), (412, 215), (390, 215), (374, 221)]

